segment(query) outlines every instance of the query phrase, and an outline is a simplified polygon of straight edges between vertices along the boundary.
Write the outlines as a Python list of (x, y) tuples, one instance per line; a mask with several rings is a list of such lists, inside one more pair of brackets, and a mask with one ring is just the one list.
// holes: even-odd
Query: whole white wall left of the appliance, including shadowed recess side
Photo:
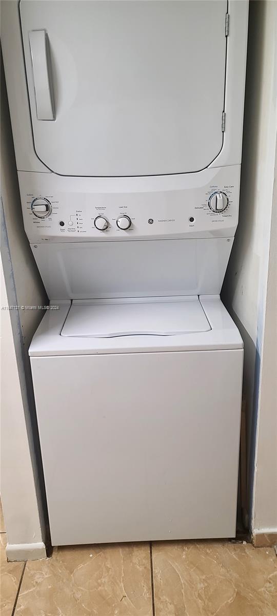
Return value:
[[(47, 296), (23, 229), (9, 108), (1, 65), (1, 256), (4, 306)], [(2, 279), (2, 284), (3, 279)], [(47, 507), (28, 346), (42, 310), (1, 310), (1, 498), (9, 559), (45, 556)]]

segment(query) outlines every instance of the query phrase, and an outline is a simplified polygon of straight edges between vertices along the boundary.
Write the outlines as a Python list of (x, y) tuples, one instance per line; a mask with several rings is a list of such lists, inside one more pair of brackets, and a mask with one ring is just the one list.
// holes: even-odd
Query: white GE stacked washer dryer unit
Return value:
[(247, 2), (2, 4), (52, 543), (233, 537)]

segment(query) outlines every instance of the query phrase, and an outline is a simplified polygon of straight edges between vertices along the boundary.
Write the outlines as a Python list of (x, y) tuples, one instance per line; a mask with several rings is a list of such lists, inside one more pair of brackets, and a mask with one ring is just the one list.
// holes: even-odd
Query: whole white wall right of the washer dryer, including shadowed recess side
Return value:
[[(272, 386), (275, 352), (268, 343), (271, 338), (274, 344), (276, 314), (273, 230), (270, 251), (271, 214), (276, 216), (276, 41), (277, 2), (250, 2), (240, 216), (222, 298), (244, 339), (249, 525), (252, 531), (260, 532), (265, 528), (277, 530), (276, 405)], [(272, 228), (275, 224), (272, 222)]]

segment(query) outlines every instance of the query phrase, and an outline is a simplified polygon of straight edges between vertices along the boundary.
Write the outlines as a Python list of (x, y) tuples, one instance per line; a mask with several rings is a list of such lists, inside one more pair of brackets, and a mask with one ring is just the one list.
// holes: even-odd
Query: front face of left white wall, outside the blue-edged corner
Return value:
[[(1, 498), (7, 530), (7, 555), (23, 559), (22, 544), (37, 544), (46, 556), (33, 466), (26, 431), (14, 338), (1, 261)], [(18, 546), (19, 544), (19, 546)], [(33, 550), (33, 548), (31, 548)], [(30, 556), (30, 546), (28, 556)], [(16, 554), (15, 554), (16, 552)]]

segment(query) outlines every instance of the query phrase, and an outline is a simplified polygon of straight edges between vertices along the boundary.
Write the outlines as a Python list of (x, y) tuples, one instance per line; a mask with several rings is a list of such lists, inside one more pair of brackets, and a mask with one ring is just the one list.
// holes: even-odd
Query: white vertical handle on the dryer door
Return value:
[(34, 95), (38, 120), (55, 120), (48, 61), (48, 37), (45, 30), (29, 32), (34, 77)]

